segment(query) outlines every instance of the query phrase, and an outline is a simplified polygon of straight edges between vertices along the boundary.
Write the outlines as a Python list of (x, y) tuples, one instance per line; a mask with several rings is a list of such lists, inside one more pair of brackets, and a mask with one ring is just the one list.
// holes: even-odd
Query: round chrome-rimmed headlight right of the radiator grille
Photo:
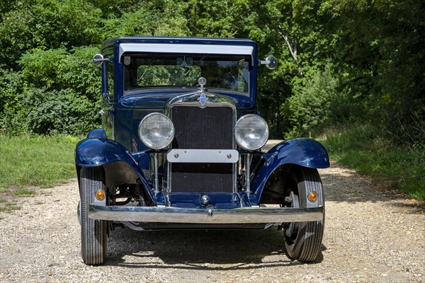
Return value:
[(268, 139), (266, 121), (253, 114), (240, 117), (234, 126), (234, 139), (242, 149), (260, 149)]

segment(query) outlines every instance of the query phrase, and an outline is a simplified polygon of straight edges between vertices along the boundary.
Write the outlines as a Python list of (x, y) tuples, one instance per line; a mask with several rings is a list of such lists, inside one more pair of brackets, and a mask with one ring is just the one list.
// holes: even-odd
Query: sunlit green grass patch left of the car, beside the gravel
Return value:
[(0, 192), (32, 195), (11, 186), (52, 187), (75, 178), (74, 149), (69, 136), (6, 137), (0, 135)]

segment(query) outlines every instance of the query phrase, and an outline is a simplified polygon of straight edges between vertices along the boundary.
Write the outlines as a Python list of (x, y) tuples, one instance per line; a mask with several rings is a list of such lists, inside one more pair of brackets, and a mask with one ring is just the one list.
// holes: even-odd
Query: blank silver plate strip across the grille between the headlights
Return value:
[(166, 154), (171, 163), (236, 163), (236, 149), (171, 149)]

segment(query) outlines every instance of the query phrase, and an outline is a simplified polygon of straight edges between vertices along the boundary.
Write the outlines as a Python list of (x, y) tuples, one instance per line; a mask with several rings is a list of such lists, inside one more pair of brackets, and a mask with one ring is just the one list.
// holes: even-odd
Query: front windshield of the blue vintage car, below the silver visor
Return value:
[(249, 57), (217, 54), (124, 54), (124, 93), (152, 86), (222, 88), (248, 94)]

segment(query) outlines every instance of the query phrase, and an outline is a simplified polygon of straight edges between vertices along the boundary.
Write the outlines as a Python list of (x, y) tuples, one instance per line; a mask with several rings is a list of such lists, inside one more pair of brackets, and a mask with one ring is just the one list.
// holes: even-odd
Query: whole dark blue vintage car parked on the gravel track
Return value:
[(256, 42), (120, 37), (94, 56), (102, 69), (102, 129), (77, 144), (81, 256), (97, 265), (117, 225), (146, 229), (283, 229), (287, 254), (314, 261), (324, 197), (312, 139), (261, 149)]

